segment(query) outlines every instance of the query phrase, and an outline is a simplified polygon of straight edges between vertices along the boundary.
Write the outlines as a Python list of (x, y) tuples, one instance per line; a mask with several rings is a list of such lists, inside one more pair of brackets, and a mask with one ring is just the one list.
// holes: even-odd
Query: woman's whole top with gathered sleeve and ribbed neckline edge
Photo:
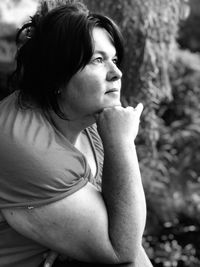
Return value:
[[(73, 194), (88, 182), (99, 190), (103, 146), (96, 125), (84, 130), (97, 173), (85, 156), (39, 109), (22, 109), (18, 92), (0, 102), (0, 209), (49, 204)], [(0, 217), (1, 218), (1, 217)], [(0, 267), (36, 267), (47, 248), (20, 235), (0, 220)]]

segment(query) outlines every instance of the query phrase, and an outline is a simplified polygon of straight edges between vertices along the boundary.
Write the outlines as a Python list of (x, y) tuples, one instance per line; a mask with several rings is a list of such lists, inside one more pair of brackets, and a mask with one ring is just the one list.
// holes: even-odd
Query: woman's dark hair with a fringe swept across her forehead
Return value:
[(123, 42), (116, 24), (108, 17), (89, 13), (81, 2), (68, 2), (48, 10), (43, 6), (16, 37), (19, 46), (17, 67), (12, 75), (19, 103), (32, 103), (53, 109), (62, 117), (57, 101), (58, 89), (90, 61), (93, 54), (92, 29), (104, 28), (116, 47), (118, 64), (123, 57)]

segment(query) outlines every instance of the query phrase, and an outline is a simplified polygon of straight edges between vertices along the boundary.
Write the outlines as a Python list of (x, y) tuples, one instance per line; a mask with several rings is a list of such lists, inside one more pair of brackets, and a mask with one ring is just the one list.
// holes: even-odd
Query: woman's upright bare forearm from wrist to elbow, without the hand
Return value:
[(141, 248), (146, 203), (134, 143), (105, 144), (102, 195), (109, 237), (120, 262), (134, 261)]

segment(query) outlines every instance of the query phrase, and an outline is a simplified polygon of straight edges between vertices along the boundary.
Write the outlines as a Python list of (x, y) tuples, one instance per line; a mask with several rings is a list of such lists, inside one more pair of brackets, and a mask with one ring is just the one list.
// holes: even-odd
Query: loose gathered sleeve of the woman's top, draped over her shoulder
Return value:
[(11, 95), (0, 103), (0, 208), (47, 204), (84, 186), (82, 155), (37, 109), (22, 109)]

